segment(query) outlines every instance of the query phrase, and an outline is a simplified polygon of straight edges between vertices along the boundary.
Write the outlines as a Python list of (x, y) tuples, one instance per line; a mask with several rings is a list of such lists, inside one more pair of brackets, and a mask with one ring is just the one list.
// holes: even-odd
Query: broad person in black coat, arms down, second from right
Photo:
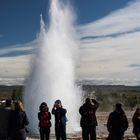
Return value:
[(107, 129), (109, 131), (109, 140), (123, 140), (124, 132), (128, 128), (128, 120), (122, 109), (122, 104), (117, 103), (115, 110), (110, 113), (107, 121)]

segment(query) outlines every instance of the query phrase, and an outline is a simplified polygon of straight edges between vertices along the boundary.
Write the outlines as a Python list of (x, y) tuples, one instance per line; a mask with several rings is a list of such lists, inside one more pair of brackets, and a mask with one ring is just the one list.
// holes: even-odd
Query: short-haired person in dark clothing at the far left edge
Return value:
[(9, 138), (9, 120), (12, 112), (11, 104), (12, 101), (7, 99), (5, 108), (0, 109), (0, 140), (7, 140)]

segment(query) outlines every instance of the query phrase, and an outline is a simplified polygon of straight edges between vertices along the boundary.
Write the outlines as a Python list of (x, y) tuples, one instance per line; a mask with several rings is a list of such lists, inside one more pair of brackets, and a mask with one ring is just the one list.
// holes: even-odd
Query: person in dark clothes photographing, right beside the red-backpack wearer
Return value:
[(55, 116), (55, 136), (56, 140), (66, 140), (66, 112), (62, 107), (60, 100), (56, 100), (52, 109), (52, 114)]

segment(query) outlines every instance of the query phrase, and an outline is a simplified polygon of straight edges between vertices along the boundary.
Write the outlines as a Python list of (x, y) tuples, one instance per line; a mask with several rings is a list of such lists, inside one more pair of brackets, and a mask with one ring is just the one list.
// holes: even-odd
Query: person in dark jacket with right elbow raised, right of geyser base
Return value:
[(89, 136), (90, 140), (96, 140), (97, 119), (95, 113), (98, 107), (99, 103), (95, 99), (87, 98), (79, 109), (83, 140), (89, 140)]

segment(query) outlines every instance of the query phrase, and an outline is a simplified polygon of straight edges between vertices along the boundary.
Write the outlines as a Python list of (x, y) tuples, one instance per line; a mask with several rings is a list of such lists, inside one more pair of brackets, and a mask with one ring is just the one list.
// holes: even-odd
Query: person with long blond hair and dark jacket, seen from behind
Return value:
[(25, 140), (26, 139), (26, 125), (29, 124), (26, 113), (21, 101), (15, 102), (15, 110), (12, 112), (11, 120), (11, 139)]

